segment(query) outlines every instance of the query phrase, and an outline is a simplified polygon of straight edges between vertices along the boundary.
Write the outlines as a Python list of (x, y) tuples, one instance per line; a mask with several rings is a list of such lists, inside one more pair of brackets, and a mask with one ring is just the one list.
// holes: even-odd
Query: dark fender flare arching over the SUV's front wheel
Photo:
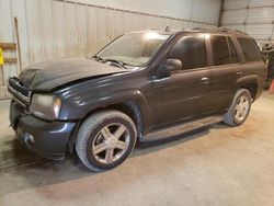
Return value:
[[(70, 104), (62, 105), (59, 119), (83, 119), (87, 115), (99, 108), (104, 108), (118, 103), (135, 103), (138, 105), (144, 129), (150, 125), (151, 111), (148, 105), (146, 96), (139, 90), (121, 90), (99, 95), (84, 96), (81, 100), (71, 99)], [(73, 104), (73, 111), (71, 111), (71, 104)], [(69, 112), (68, 112), (69, 111)]]

